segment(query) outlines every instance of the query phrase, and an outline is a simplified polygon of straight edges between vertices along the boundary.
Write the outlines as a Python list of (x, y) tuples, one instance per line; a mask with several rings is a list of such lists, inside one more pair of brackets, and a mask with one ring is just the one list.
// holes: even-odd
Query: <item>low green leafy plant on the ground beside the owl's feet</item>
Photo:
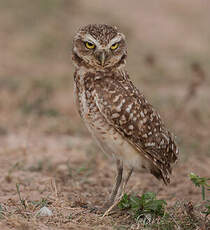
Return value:
[(164, 216), (165, 205), (165, 200), (158, 200), (155, 193), (147, 192), (141, 197), (125, 194), (118, 207), (130, 210), (137, 220), (143, 218), (146, 222), (151, 222), (156, 217)]

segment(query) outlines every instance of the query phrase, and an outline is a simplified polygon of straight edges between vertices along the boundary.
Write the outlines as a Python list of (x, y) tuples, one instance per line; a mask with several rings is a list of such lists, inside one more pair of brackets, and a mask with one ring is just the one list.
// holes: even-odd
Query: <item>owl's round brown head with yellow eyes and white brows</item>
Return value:
[(127, 56), (125, 36), (116, 27), (91, 24), (80, 28), (73, 40), (73, 61), (105, 70), (125, 64)]

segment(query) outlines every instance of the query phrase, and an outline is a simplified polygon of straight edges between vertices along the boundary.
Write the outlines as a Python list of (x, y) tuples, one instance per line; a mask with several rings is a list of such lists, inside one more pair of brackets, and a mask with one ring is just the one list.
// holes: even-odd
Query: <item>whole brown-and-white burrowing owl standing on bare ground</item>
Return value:
[[(130, 80), (126, 57), (125, 36), (116, 27), (87, 25), (74, 38), (78, 111), (104, 152), (117, 162), (116, 183), (107, 206), (119, 187), (125, 187), (133, 169), (146, 168), (168, 184), (178, 156), (159, 114)], [(129, 169), (124, 179), (123, 165)]]

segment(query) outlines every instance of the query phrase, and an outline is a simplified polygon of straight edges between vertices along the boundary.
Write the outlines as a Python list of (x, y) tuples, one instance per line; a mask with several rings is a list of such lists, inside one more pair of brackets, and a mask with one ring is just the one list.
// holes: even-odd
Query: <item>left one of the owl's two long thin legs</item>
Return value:
[(122, 183), (123, 163), (119, 159), (117, 159), (116, 163), (117, 163), (117, 177), (115, 179), (115, 184), (112, 188), (112, 192), (111, 192), (111, 195), (109, 197), (109, 200), (104, 204), (104, 208), (108, 208), (113, 204), (113, 202), (116, 198), (116, 195), (118, 193), (119, 187)]

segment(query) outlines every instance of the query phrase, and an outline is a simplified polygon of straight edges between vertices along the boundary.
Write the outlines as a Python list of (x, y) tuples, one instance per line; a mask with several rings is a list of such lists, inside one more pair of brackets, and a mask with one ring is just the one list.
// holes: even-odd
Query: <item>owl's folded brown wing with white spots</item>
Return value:
[(149, 160), (151, 173), (170, 182), (178, 149), (159, 114), (129, 80), (127, 73), (96, 81), (94, 97), (101, 113), (127, 141)]

